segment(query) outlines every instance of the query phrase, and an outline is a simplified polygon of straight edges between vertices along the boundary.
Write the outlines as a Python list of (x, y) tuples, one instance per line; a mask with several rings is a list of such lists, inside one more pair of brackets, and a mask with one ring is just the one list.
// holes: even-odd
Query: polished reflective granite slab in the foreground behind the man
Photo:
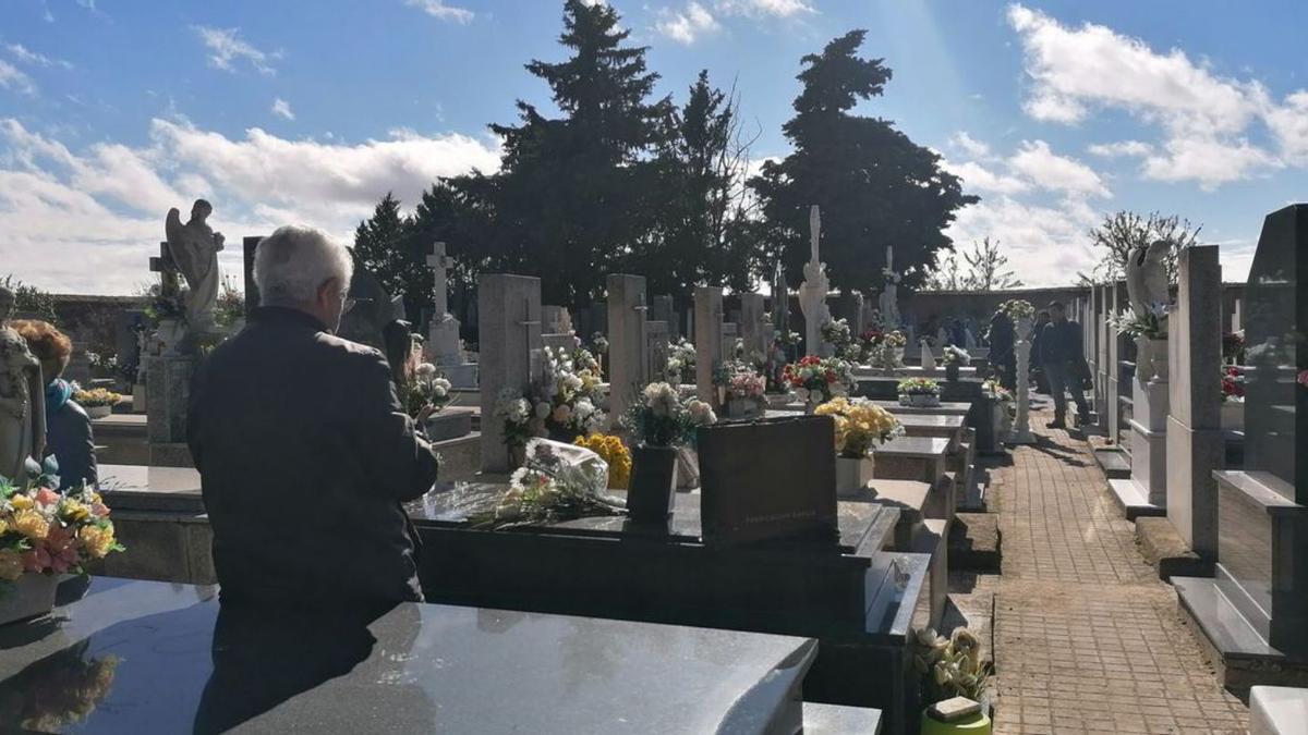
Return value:
[(0, 726), (75, 732), (794, 731), (812, 640), (434, 604), (326, 623), (94, 578), (0, 626)]

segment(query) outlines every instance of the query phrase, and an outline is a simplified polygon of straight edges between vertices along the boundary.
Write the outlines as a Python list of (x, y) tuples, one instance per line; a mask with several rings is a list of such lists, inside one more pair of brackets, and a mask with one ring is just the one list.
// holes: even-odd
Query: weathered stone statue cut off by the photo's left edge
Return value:
[(22, 483), (46, 450), (46, 394), (41, 361), (9, 327), (16, 302), (0, 286), (0, 476)]

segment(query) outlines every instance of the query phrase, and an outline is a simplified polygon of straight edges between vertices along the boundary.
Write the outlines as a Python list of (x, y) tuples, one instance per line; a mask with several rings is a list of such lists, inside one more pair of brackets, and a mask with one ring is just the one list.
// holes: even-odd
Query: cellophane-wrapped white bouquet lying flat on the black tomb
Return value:
[(494, 509), (468, 521), (476, 528), (549, 524), (591, 515), (619, 515), (620, 500), (604, 493), (608, 464), (594, 451), (534, 438), (526, 460), (509, 479), (509, 492)]

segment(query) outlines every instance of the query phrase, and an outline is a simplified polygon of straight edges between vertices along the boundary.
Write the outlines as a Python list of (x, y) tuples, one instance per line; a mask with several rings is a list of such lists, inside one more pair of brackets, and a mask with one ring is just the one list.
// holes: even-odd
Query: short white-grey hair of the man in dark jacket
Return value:
[(264, 306), (311, 303), (328, 279), (337, 279), (345, 289), (353, 275), (354, 260), (345, 246), (306, 225), (277, 228), (259, 241), (254, 254), (254, 282)]

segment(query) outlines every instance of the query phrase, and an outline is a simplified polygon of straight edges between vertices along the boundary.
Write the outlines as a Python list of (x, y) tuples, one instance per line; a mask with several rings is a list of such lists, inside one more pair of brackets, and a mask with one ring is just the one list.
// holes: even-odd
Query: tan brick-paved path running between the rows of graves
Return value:
[(957, 590), (993, 595), (995, 732), (1244, 732), (1088, 445), (1052, 419), (1032, 412), (1039, 443), (989, 468), (1002, 573)]

